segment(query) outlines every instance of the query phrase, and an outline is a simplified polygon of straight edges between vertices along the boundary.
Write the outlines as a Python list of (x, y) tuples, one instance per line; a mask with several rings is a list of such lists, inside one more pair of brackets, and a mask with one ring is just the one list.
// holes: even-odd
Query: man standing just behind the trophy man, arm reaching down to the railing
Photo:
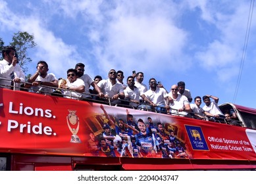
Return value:
[(92, 86), (93, 89), (95, 89), (94, 91), (96, 91), (97, 94), (99, 94), (99, 97), (104, 97), (101, 89), (99, 88), (99, 86), (97, 86), (97, 83), (95, 83), (95, 81), (93, 81), (93, 79), (88, 74), (84, 74), (83, 63), (80, 62), (76, 64), (74, 69), (76, 69), (77, 71), (78, 78), (84, 81), (85, 88), (84, 88), (84, 94), (82, 95), (84, 99), (92, 98), (90, 95), (90, 86)]

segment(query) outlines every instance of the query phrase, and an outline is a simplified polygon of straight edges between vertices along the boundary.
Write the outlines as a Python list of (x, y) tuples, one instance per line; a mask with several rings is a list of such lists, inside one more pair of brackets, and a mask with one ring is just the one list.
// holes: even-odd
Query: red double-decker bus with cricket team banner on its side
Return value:
[(0, 88), (0, 170), (255, 170), (256, 110), (227, 108), (237, 126)]

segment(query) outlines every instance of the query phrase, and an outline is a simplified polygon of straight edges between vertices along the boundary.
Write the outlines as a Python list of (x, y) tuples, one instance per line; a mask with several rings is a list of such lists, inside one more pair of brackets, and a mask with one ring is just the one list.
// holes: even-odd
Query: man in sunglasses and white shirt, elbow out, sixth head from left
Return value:
[(116, 82), (116, 70), (111, 69), (109, 71), (109, 78), (99, 81), (97, 85), (103, 91), (104, 97), (110, 98), (112, 102), (120, 103), (118, 99), (124, 99), (124, 88), (122, 84)]

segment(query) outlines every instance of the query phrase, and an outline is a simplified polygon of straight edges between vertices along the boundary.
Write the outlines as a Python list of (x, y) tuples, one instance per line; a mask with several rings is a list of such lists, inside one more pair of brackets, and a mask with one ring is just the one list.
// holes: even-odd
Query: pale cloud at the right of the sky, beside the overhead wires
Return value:
[[(203, 68), (217, 72), (220, 81), (229, 81), (238, 75), (243, 54), (249, 5), (240, 1), (239, 4), (236, 3), (226, 11), (214, 9), (212, 6), (207, 9), (205, 3), (200, 6), (203, 14), (212, 12), (212, 15), (207, 16), (212, 18), (203, 16), (203, 19), (211, 22), (219, 33), (214, 41), (208, 43), (207, 47), (198, 51), (195, 56)], [(233, 70), (226, 70), (229, 66), (232, 66)], [(225, 74), (221, 74), (223, 71)]]

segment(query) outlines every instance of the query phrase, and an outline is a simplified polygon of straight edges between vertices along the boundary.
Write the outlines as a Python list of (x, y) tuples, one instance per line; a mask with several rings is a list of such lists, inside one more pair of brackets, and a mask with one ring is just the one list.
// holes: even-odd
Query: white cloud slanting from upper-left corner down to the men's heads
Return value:
[[(22, 31), (33, 34), (38, 45), (36, 47), (38, 60), (45, 60), (49, 64), (50, 72), (54, 72), (57, 76), (65, 77), (66, 70), (73, 68), (74, 60), (80, 58), (76, 53), (76, 47), (66, 45), (60, 37), (48, 30), (48, 25), (43, 24), (44, 21), (39, 16), (35, 14), (32, 16), (14, 14), (7, 6), (3, 7), (3, 9), (7, 13), (1, 14), (1, 24), (4, 24), (3, 26), (13, 32)], [(0, 12), (3, 11), (1, 10)], [(36, 63), (38, 60), (34, 60), (34, 62)], [(30, 67), (28, 72), (35, 72), (34, 68), (33, 66)]]

